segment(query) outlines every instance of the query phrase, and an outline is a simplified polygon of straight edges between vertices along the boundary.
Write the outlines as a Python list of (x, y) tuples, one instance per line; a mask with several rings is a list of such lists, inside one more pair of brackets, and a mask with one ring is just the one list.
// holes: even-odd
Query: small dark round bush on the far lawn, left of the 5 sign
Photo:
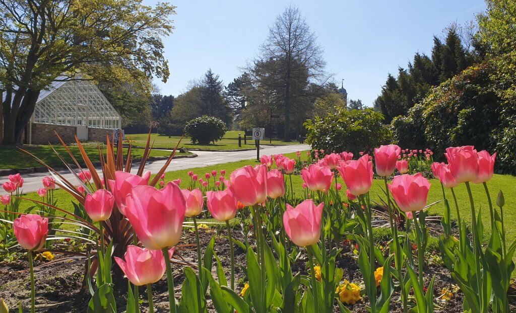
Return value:
[(186, 123), (184, 134), (192, 143), (208, 144), (222, 139), (227, 130), (221, 119), (204, 115)]

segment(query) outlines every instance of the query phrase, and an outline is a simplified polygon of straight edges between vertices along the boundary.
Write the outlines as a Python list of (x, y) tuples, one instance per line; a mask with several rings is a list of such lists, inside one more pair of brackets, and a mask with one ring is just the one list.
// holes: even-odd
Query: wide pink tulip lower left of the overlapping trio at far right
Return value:
[(430, 182), (421, 173), (395, 176), (388, 186), (402, 211), (421, 211), (425, 208)]

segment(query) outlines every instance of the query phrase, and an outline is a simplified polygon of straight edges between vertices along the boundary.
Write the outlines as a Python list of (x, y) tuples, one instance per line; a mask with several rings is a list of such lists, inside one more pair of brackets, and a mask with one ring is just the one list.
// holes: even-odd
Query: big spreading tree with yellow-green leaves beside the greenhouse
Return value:
[(107, 68), (120, 80), (142, 72), (166, 81), (161, 36), (173, 13), (139, 0), (0, 0), (3, 143), (20, 140), (41, 90), (61, 74), (94, 79)]

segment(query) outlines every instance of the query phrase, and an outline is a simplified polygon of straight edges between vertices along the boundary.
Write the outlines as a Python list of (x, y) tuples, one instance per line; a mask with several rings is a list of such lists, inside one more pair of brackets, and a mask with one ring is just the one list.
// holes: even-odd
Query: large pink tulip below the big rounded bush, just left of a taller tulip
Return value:
[(363, 155), (358, 160), (340, 161), (337, 168), (344, 183), (353, 195), (366, 194), (373, 184), (373, 162)]

